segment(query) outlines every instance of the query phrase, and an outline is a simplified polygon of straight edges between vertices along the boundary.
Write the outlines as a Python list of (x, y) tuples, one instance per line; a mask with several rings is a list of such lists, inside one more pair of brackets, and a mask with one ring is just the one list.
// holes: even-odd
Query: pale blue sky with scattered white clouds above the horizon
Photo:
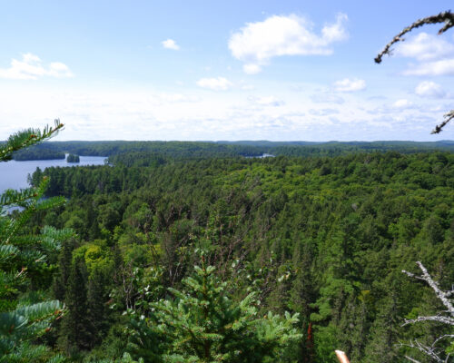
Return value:
[(452, 1), (0, 0), (0, 140), (438, 141)]

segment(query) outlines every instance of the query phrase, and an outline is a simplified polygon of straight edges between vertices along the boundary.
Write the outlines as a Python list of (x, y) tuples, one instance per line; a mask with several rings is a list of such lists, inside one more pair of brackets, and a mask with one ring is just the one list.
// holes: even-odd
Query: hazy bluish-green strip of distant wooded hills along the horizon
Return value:
[(454, 142), (43, 142), (15, 152), (15, 160), (64, 159), (64, 153), (115, 156), (122, 153), (158, 153), (173, 158), (234, 156), (335, 156), (352, 152), (454, 151)]

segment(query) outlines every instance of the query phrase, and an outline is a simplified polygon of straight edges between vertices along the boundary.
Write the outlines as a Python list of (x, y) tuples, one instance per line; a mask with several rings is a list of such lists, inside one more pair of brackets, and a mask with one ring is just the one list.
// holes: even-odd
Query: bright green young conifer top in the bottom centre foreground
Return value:
[(260, 317), (255, 294), (233, 301), (214, 271), (202, 257), (183, 280), (183, 291), (171, 288), (173, 299), (151, 304), (150, 327), (157, 322), (153, 331), (164, 341), (163, 362), (266, 362), (301, 338), (293, 327), (298, 314)]

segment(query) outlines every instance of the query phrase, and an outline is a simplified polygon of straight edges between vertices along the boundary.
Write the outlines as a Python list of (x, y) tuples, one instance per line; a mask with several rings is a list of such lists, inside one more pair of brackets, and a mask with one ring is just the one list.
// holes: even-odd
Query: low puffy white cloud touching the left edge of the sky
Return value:
[(73, 77), (74, 74), (66, 64), (53, 62), (45, 67), (41, 59), (31, 53), (23, 54), (22, 60), (11, 60), (9, 68), (0, 68), (0, 78), (15, 80), (36, 80), (40, 77), (49, 76), (55, 78)]

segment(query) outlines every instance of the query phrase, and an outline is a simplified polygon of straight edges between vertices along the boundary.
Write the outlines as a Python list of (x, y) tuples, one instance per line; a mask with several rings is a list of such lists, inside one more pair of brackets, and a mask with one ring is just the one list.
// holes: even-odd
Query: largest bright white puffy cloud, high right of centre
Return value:
[(347, 15), (339, 14), (336, 23), (325, 25), (321, 34), (315, 34), (306, 18), (272, 15), (262, 22), (248, 23), (232, 34), (229, 49), (244, 63), (245, 73), (257, 74), (275, 56), (332, 54), (331, 44), (348, 37), (346, 20)]

